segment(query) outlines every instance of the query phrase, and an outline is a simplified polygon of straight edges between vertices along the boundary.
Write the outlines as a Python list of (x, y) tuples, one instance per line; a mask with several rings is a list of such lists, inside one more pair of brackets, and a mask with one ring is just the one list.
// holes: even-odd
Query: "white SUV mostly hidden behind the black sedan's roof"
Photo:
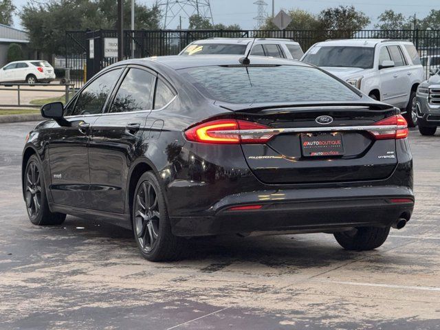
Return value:
[[(252, 45), (254, 43), (254, 45)], [(193, 41), (179, 55), (244, 55), (252, 47), (252, 56), (272, 56), (299, 60), (304, 52), (299, 43), (275, 38), (210, 38)]]

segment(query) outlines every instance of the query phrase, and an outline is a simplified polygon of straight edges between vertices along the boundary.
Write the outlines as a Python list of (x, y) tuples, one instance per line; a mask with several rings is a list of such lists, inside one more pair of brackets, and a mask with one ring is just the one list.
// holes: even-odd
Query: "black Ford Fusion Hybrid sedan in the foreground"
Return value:
[(121, 61), (45, 104), (23, 150), (30, 221), (113, 219), (151, 261), (214, 234), (382, 245), (414, 207), (399, 109), (299, 61), (241, 58)]

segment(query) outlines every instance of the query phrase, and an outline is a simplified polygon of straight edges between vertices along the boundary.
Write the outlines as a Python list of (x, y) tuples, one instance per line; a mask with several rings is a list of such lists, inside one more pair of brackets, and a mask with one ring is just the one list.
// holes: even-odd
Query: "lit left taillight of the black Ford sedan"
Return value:
[(185, 131), (188, 141), (214, 144), (261, 144), (274, 134), (264, 130), (269, 126), (246, 120), (220, 119), (204, 122)]

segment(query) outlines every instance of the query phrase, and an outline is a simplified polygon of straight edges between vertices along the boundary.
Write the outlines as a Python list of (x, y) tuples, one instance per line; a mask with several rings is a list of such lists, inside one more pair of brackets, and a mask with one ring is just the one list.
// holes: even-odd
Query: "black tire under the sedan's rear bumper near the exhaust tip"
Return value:
[(334, 236), (345, 250), (366, 251), (379, 248), (386, 241), (389, 232), (389, 226), (359, 227), (349, 232), (336, 232)]

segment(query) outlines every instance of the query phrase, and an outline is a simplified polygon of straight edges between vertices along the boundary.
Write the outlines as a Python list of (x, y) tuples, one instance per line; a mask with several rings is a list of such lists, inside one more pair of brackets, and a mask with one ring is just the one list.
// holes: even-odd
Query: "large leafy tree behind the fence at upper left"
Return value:
[[(131, 0), (124, 0), (124, 28), (130, 29)], [(135, 28), (157, 30), (160, 10), (157, 5), (135, 6)], [(64, 54), (65, 31), (115, 29), (117, 3), (114, 0), (29, 1), (19, 13), (28, 30), (30, 47), (47, 54)]]

